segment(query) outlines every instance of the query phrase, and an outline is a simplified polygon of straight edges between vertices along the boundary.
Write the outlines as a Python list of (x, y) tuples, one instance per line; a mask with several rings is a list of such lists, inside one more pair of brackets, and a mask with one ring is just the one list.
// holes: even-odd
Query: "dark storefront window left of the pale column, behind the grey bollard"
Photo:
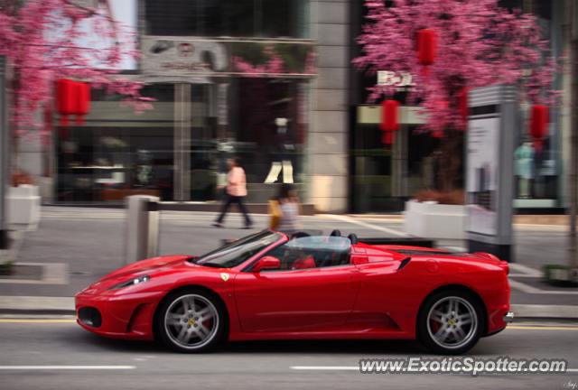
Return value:
[(145, 93), (157, 101), (144, 116), (120, 107), (113, 97), (93, 100), (83, 125), (58, 127), (58, 201), (119, 202), (135, 194), (172, 200), (173, 103), (163, 101), (172, 85), (149, 87)]

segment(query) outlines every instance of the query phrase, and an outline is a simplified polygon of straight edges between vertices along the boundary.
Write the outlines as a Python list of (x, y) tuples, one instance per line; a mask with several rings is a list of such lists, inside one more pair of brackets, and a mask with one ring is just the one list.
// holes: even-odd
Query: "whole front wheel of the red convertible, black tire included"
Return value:
[[(187, 305), (190, 311), (186, 310)], [(203, 311), (207, 313), (202, 314)], [(227, 320), (226, 308), (219, 297), (190, 288), (172, 292), (163, 299), (154, 319), (154, 331), (156, 339), (177, 352), (209, 352), (224, 339)], [(189, 340), (185, 341), (187, 337)]]

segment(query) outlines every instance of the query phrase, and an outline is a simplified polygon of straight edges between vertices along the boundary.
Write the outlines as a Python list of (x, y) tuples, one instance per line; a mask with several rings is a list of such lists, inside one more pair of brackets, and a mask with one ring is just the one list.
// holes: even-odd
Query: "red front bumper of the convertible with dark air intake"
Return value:
[(154, 339), (154, 311), (163, 296), (163, 292), (79, 292), (75, 296), (77, 322), (85, 330), (109, 338)]

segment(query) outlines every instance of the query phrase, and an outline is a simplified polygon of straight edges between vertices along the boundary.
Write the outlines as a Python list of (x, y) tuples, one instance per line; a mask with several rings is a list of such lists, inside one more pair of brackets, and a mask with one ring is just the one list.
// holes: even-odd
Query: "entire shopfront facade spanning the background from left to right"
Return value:
[[(51, 147), (27, 143), (21, 166), (39, 176), (45, 202), (119, 203), (144, 193), (162, 200), (216, 201), (226, 159), (247, 172), (247, 201), (265, 203), (289, 182), (322, 212), (404, 209), (435, 182), (439, 140), (420, 134), (419, 107), (401, 107), (395, 143), (381, 144), (378, 82), (411, 88), (411, 75), (367, 77), (351, 66), (364, 23), (363, 0), (130, 0), (142, 58), (126, 77), (146, 84), (154, 109), (135, 114), (93, 90), (82, 125), (60, 126)], [(552, 51), (567, 49), (564, 0), (504, 0), (539, 17)], [(569, 72), (555, 88), (545, 153), (525, 153), (517, 132), (518, 209), (566, 206)], [(403, 98), (403, 97), (402, 97)], [(527, 120), (527, 105), (520, 107)], [(527, 150), (526, 150), (527, 152)], [(524, 164), (519, 164), (524, 165)], [(529, 177), (527, 182), (520, 177)]]

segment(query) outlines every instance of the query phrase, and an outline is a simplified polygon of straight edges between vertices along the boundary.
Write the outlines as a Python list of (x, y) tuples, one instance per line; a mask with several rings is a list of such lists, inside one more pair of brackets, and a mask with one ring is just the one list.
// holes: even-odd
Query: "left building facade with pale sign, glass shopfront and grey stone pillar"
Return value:
[(61, 204), (219, 199), (226, 160), (249, 202), (281, 182), (322, 211), (347, 207), (349, 3), (141, 0), (142, 57), (126, 77), (154, 109), (93, 90), (82, 125), (57, 126), (46, 198)]

